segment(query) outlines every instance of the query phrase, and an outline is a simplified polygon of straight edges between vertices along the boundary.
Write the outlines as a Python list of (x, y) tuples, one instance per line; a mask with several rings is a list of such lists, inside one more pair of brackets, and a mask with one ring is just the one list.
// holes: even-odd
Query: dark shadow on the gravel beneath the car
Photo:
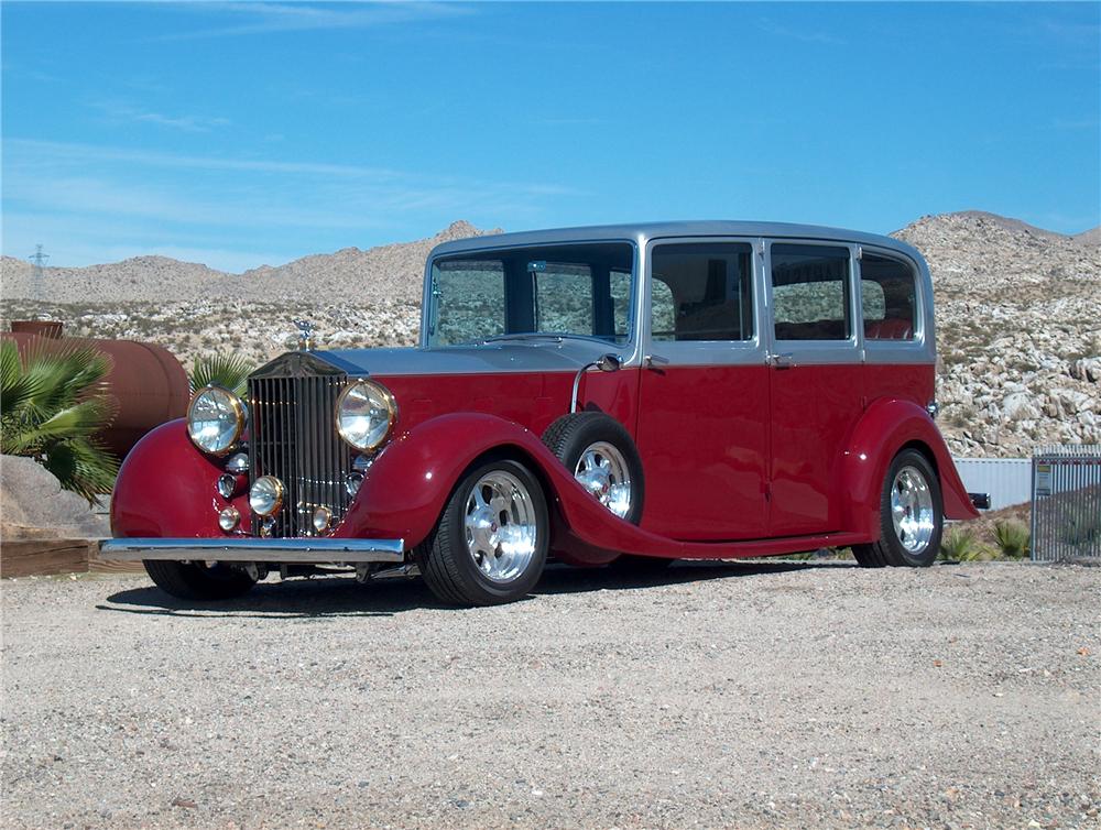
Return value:
[[(589, 591), (634, 591), (666, 585), (712, 579), (768, 576), (820, 568), (851, 568), (837, 560), (678, 561), (661, 570), (547, 566), (528, 602), (541, 596)], [(97, 610), (157, 616), (233, 616), (296, 619), (325, 616), (390, 616), (404, 611), (438, 609), (461, 611), (442, 603), (419, 579), (385, 580), (360, 585), (350, 576), (324, 576), (261, 582), (244, 597), (205, 602), (171, 597), (155, 586), (112, 593)]]

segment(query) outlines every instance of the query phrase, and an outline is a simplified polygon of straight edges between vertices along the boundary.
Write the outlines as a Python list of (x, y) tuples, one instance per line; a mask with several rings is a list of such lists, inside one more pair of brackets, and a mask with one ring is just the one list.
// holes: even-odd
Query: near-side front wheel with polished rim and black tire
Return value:
[(501, 459), (464, 477), (415, 556), (424, 581), (444, 602), (495, 605), (531, 592), (549, 538), (538, 480), (522, 463)]

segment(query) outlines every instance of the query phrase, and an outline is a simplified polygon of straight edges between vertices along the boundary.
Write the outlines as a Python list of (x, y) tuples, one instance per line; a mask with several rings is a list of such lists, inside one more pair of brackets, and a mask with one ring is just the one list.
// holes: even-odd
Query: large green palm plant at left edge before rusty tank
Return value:
[(115, 417), (103, 379), (111, 360), (79, 343), (0, 343), (0, 451), (28, 456), (89, 502), (109, 493), (118, 459), (96, 439)]

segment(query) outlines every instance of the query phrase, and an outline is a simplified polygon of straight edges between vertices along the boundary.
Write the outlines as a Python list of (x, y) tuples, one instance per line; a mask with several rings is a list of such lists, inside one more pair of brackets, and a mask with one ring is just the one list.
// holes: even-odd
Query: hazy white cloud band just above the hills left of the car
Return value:
[[(3, 175), (6, 252), (22, 256), (42, 241), (59, 265), (106, 261), (108, 248), (193, 249), (206, 253), (189, 259), (240, 271), (460, 217), (537, 223), (549, 204), (582, 195), (554, 182), (29, 139), (4, 142)], [(257, 253), (284, 245), (282, 256)]]

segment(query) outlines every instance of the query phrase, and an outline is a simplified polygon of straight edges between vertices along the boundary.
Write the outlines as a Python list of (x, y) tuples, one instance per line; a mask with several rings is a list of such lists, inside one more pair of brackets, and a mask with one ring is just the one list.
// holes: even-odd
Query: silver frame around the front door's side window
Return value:
[[(640, 321), (644, 331), (645, 354), (655, 354), (668, 361), (668, 365), (760, 365), (764, 363), (763, 340), (761, 338), (761, 263), (757, 237), (657, 237), (646, 240), (644, 279), (641, 294)], [(653, 253), (655, 248), (666, 244), (746, 244), (750, 247), (750, 262), (753, 297), (753, 337), (749, 340), (653, 340), (651, 315), (653, 313)]]

